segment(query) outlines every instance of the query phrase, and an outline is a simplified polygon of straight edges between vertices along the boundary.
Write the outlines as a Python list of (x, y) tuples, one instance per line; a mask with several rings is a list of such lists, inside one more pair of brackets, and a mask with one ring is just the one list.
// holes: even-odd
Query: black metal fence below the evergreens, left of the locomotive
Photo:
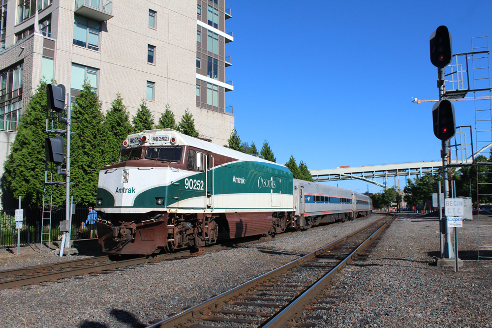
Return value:
[[(84, 226), (89, 210), (75, 208), (72, 215), (71, 240), (89, 238), (89, 229)], [(60, 221), (65, 220), (65, 208), (51, 211), (51, 241), (62, 240)], [(24, 209), (24, 220), (20, 229), (20, 244), (40, 242), (41, 240), (41, 209)], [(15, 209), (0, 209), (0, 248), (17, 247), (17, 229), (15, 229)]]

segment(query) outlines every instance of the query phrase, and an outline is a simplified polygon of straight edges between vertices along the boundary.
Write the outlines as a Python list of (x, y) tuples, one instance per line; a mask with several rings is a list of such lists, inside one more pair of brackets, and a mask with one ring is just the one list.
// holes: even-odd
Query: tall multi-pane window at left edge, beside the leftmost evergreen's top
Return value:
[(23, 66), (0, 73), (0, 130), (17, 130), (22, 108)]

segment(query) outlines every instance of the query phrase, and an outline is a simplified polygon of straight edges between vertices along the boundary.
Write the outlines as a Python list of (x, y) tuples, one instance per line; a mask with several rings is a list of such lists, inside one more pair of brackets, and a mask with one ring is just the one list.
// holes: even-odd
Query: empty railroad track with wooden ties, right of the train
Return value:
[[(149, 328), (188, 327), (314, 327), (333, 299), (323, 290), (333, 276), (376, 239), (394, 216), (385, 216), (295, 261), (265, 273), (225, 293)], [(306, 311), (314, 311), (310, 314)], [(326, 315), (326, 312), (325, 312)]]

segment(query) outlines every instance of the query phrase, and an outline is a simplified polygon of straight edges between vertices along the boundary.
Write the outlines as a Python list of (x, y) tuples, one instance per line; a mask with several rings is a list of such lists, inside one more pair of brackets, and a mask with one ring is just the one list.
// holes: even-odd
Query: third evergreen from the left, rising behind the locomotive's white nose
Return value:
[(130, 114), (126, 110), (126, 106), (123, 105), (121, 93), (116, 94), (116, 99), (111, 104), (111, 110), (106, 113), (103, 127), (108, 136), (107, 148), (104, 151), (104, 164), (107, 165), (118, 160), (123, 141), (129, 134), (133, 133)]

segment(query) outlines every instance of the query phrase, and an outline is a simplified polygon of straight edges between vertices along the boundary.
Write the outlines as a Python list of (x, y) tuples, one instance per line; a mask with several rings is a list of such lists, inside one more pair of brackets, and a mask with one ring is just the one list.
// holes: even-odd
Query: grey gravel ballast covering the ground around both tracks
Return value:
[[(108, 274), (1, 290), (0, 327), (145, 327), (380, 217), (372, 214), (363, 220)], [(429, 252), (439, 252), (438, 221), (423, 215), (398, 217), (366, 261), (352, 263), (335, 279), (330, 292), (340, 297), (332, 312), (321, 314), (326, 327), (488, 327), (490, 261), (464, 259), (460, 272), (429, 266), (434, 255)], [(476, 249), (476, 222), (465, 222), (463, 228), (460, 249)], [(55, 256), (3, 252), (1, 269), (37, 265), (50, 258)]]

